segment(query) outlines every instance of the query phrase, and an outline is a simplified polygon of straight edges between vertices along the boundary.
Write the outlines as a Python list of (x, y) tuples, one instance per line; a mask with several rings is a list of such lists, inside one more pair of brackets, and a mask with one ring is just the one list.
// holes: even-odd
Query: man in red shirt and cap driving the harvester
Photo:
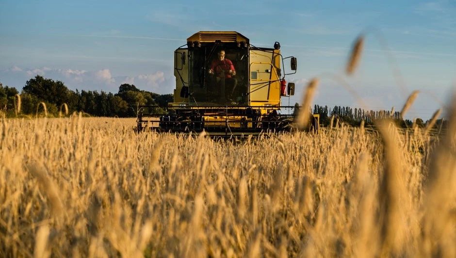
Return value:
[(224, 50), (220, 50), (218, 59), (212, 61), (209, 74), (215, 76), (213, 81), (215, 85), (220, 86), (222, 98), (225, 98), (225, 85), (232, 85), (231, 95), (233, 95), (237, 85), (237, 80), (233, 77), (236, 75), (236, 70), (231, 60), (225, 58)]

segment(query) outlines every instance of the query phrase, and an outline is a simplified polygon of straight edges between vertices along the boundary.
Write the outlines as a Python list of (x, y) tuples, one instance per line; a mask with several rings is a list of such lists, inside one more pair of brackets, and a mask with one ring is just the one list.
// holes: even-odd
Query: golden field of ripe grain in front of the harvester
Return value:
[(4, 118), (0, 257), (456, 257), (455, 122), (236, 142)]

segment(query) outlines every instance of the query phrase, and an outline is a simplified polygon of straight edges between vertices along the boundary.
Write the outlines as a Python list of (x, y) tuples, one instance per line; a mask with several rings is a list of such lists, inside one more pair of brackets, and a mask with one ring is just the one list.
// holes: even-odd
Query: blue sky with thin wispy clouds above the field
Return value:
[[(129, 82), (172, 93), (173, 51), (202, 30), (238, 31), (257, 46), (279, 41), (298, 58), (292, 104), (319, 77), (317, 104), (359, 107), (349, 84), (368, 108), (398, 110), (418, 89), (409, 116), (427, 119), (455, 88), (456, 1), (0, 0), (0, 81), (21, 89), (41, 74), (71, 89), (116, 92)], [(347, 77), (361, 32), (361, 63)]]

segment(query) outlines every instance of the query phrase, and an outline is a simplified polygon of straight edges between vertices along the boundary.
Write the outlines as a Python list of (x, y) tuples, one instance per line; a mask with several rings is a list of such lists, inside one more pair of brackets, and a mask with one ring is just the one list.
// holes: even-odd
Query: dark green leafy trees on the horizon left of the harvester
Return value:
[(122, 84), (117, 93), (104, 91), (70, 90), (62, 81), (46, 79), (40, 75), (27, 81), (19, 91), (3, 86), (0, 82), (0, 111), (7, 116), (16, 115), (17, 95), (21, 99), (21, 114), (34, 115), (40, 102), (45, 103), (48, 114), (57, 116), (64, 104), (70, 113), (83, 112), (92, 116), (136, 116), (137, 105), (165, 106), (173, 95), (138, 89), (132, 84)]

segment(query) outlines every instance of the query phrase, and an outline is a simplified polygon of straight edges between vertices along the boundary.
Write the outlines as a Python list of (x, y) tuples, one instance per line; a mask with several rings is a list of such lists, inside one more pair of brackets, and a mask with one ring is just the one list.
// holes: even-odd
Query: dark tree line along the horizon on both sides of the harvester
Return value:
[[(16, 116), (17, 97), (21, 99), (22, 115), (35, 115), (40, 102), (45, 103), (48, 114), (57, 116), (64, 104), (67, 105), (70, 113), (83, 112), (92, 116), (136, 116), (137, 105), (160, 105), (166, 106), (173, 101), (172, 94), (160, 95), (157, 93), (138, 89), (132, 84), (121, 84), (117, 93), (104, 91), (72, 91), (62, 81), (46, 79), (40, 75), (28, 80), (22, 91), (14, 87), (3, 86), (0, 82), (0, 112), (7, 116)], [(299, 104), (295, 104), (299, 107)], [(297, 111), (297, 109), (296, 109)], [(315, 105), (313, 113), (320, 114), (320, 121), (323, 126), (330, 123), (330, 117), (334, 116), (339, 121), (351, 126), (359, 126), (361, 121), (372, 124), (376, 119), (391, 118), (398, 126), (408, 127), (413, 124), (411, 120), (403, 120), (400, 113), (394, 110), (364, 110), (361, 108)], [(421, 118), (415, 123), (424, 126)], [(442, 123), (438, 121), (437, 124)], [(444, 122), (443, 122), (444, 123)]]

